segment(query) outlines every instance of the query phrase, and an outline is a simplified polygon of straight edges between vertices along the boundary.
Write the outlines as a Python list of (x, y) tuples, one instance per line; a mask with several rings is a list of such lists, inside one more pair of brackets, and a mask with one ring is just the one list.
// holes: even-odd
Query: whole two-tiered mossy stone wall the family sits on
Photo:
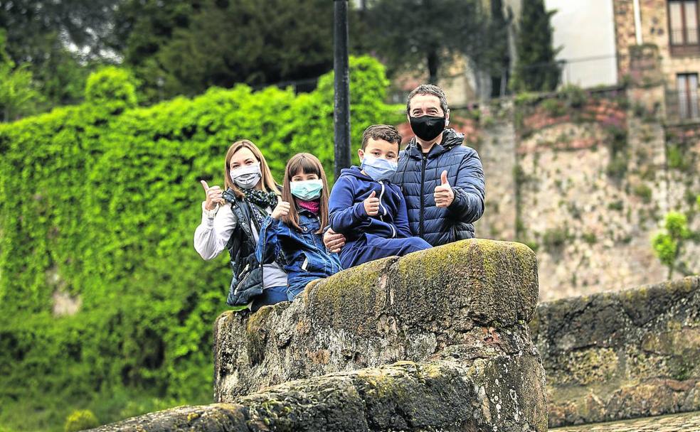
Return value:
[(100, 431), (544, 432), (524, 244), (470, 239), (314, 281), (216, 321), (211, 406)]

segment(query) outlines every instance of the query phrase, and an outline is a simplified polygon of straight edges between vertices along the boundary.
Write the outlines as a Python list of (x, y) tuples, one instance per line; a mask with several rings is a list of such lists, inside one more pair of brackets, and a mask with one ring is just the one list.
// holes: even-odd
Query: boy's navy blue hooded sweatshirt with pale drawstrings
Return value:
[[(379, 198), (379, 214), (376, 216), (369, 216), (364, 210), (363, 201), (372, 191)], [(389, 180), (373, 180), (361, 173), (357, 166), (340, 172), (331, 191), (328, 207), (331, 228), (345, 234), (347, 243), (364, 234), (374, 234), (385, 239), (413, 235), (408, 227), (406, 202), (401, 189)]]

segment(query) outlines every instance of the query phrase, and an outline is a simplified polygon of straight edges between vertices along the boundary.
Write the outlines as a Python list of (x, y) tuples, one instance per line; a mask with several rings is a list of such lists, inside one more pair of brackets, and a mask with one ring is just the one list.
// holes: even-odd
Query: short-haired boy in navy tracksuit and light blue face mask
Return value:
[(330, 227), (345, 234), (346, 244), (340, 251), (344, 269), (430, 247), (411, 234), (401, 189), (388, 180), (396, 173), (400, 146), (401, 135), (395, 127), (369, 126), (357, 151), (361, 165), (341, 171), (333, 186)]

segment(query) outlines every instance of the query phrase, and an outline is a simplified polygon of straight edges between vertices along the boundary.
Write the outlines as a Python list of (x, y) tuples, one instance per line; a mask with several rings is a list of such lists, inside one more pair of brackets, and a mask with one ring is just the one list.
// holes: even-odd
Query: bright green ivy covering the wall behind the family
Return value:
[[(356, 148), (366, 126), (401, 114), (382, 102), (381, 64), (350, 65)], [(277, 180), (298, 151), (332, 178), (332, 75), (298, 96), (237, 85), (148, 108), (127, 107), (125, 76), (90, 78), (100, 104), (0, 124), (0, 423), (17, 430), (58, 431), (76, 407), (107, 423), (211, 402), (211, 325), (230, 269), (193, 250), (198, 180), (223, 185), (241, 138)], [(115, 103), (105, 95), (124, 111), (102, 109)], [(55, 317), (54, 293), (80, 298), (80, 311)]]

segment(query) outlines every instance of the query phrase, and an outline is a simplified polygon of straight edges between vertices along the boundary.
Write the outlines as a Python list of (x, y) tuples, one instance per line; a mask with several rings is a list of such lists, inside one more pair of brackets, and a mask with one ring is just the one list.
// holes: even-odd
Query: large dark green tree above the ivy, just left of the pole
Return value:
[(315, 79), (333, 66), (332, 1), (127, 0), (116, 15), (113, 46), (151, 101)]

